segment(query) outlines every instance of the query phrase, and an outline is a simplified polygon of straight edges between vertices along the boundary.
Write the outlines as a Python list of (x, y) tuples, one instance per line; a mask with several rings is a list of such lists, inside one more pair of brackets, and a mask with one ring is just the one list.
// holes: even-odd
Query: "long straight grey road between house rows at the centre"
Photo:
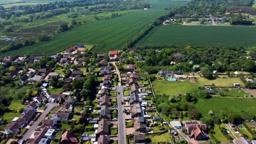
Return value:
[(115, 62), (112, 62), (112, 64), (115, 66), (118, 74), (119, 79), (119, 86), (117, 86), (117, 92), (120, 92), (120, 94), (117, 95), (117, 103), (118, 103), (118, 143), (126, 144), (126, 128), (125, 128), (125, 121), (124, 121), (124, 113), (122, 113), (122, 110), (124, 110), (124, 105), (122, 105), (122, 101), (124, 100), (124, 88), (121, 86), (121, 74), (120, 71), (117, 68), (117, 65), (115, 65)]

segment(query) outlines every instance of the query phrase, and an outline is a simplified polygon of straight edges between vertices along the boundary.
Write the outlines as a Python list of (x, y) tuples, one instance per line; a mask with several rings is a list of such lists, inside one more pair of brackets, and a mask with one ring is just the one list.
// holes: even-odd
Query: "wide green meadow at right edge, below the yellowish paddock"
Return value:
[(210, 110), (216, 115), (220, 111), (226, 113), (236, 112), (242, 116), (247, 115), (247, 112), (256, 111), (256, 99), (248, 98), (219, 98), (213, 97), (211, 99), (199, 99), (195, 106), (202, 113), (202, 116), (208, 116)]

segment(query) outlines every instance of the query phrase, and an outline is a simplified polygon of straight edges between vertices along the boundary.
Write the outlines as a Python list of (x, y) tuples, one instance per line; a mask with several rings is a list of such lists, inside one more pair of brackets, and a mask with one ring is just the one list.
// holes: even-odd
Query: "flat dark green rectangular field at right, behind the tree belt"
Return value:
[[(256, 27), (248, 26), (158, 26), (137, 45), (256, 45)], [(246, 37), (245, 37), (246, 35)]]

